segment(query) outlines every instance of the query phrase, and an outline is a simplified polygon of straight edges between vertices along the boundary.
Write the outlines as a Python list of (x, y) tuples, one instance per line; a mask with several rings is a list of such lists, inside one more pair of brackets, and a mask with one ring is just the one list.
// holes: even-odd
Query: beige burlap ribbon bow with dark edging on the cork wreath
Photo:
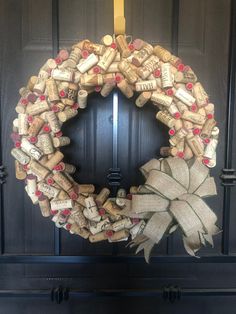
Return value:
[(212, 236), (219, 233), (217, 217), (202, 197), (216, 195), (214, 178), (197, 159), (186, 162), (177, 157), (152, 159), (140, 168), (146, 182), (138, 194), (127, 200), (123, 214), (144, 219), (143, 232), (130, 243), (144, 250), (149, 261), (153, 246), (178, 226), (188, 254), (195, 256), (201, 245), (213, 246)]

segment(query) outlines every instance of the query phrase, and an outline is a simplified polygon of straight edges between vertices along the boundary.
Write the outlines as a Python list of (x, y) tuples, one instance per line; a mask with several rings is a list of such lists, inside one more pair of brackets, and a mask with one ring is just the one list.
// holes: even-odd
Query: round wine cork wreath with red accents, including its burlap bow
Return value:
[[(152, 103), (156, 119), (169, 128), (169, 146), (163, 158), (140, 168), (145, 182), (116, 197), (104, 187), (95, 194), (93, 184), (73, 179), (76, 168), (65, 162), (60, 148), (70, 144), (63, 123), (85, 110), (88, 95), (107, 97), (117, 87), (135, 104)], [(190, 255), (202, 245), (213, 245), (219, 232), (217, 217), (202, 197), (216, 195), (209, 168), (216, 165), (219, 129), (214, 104), (193, 70), (161, 46), (124, 35), (106, 35), (101, 43), (83, 40), (70, 52), (31, 76), (19, 90), (17, 119), (11, 138), (15, 147), (16, 178), (44, 217), (90, 242), (127, 241), (144, 250), (149, 260), (153, 246), (179, 229)]]

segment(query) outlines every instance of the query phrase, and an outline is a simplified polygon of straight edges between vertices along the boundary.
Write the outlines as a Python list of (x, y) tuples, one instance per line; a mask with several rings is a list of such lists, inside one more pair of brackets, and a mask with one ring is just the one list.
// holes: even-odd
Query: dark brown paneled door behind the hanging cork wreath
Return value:
[[(53, 3), (59, 4), (60, 48), (84, 38), (98, 42), (104, 34), (113, 33), (112, 0)], [(177, 233), (156, 247), (154, 261), (146, 265), (132, 257), (134, 252), (123, 244), (91, 245), (64, 230), (55, 231), (15, 179), (9, 136), (18, 89), (52, 57), (56, 12), (49, 0), (0, 0), (1, 163), (8, 174), (1, 195), (0, 313), (234, 313), (235, 291), (226, 297), (229, 291), (223, 288), (236, 286), (236, 196), (234, 187), (222, 186), (219, 178), (222, 169), (236, 166), (232, 141), (235, 61), (230, 58), (236, 46), (236, 14), (235, 8), (234, 14), (232, 10), (229, 0), (125, 0), (127, 34), (175, 52), (178, 49), (215, 103), (221, 130), (217, 166), (212, 170), (218, 196), (208, 203), (224, 232), (215, 238), (213, 249), (201, 251), (201, 260), (185, 255)], [(230, 25), (234, 30), (231, 36)], [(67, 160), (78, 166), (76, 176), (81, 183), (95, 183), (98, 188), (108, 185), (109, 169), (119, 167), (122, 186), (139, 184), (139, 166), (159, 156), (160, 147), (168, 144), (167, 130), (155, 120), (151, 105), (140, 110), (120, 93), (118, 102), (117, 127), (113, 95), (103, 99), (94, 94), (89, 107), (64, 128), (72, 138), (64, 152)], [(229, 183), (227, 176), (225, 183)], [(65, 257), (60, 263), (61, 256), (56, 256), (55, 263), (44, 258), (58, 253)], [(22, 255), (27, 258), (23, 260)], [(73, 263), (73, 256), (85, 258)], [(162, 300), (162, 288), (169, 285), (182, 290), (175, 305)], [(55, 304), (60, 293), (55, 293), (54, 303), (49, 297), (50, 289), (59, 286), (71, 289), (68, 302), (60, 307)], [(109, 294), (94, 292), (101, 289)], [(118, 291), (112, 294), (117, 289), (124, 290), (123, 297)], [(157, 289), (156, 294), (152, 289)], [(217, 297), (214, 289), (219, 289)]]

